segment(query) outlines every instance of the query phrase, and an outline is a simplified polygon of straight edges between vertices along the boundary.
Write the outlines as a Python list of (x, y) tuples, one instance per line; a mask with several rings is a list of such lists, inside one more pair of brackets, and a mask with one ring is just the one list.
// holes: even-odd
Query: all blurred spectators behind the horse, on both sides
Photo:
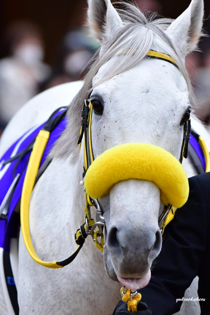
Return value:
[[(157, 0), (136, 0), (143, 12), (166, 15)], [(208, 17), (210, 12), (206, 12)], [(205, 20), (205, 31), (210, 34), (210, 19)], [(19, 20), (4, 31), (4, 50), (0, 60), (0, 133), (15, 112), (33, 96), (57, 84), (83, 78), (82, 69), (99, 48), (87, 35), (87, 30), (76, 25), (67, 30), (57, 50), (52, 52), (54, 62), (44, 62), (45, 44), (42, 30), (31, 21)], [(203, 37), (201, 52), (186, 57), (186, 66), (198, 100), (196, 114), (210, 124), (210, 37)]]

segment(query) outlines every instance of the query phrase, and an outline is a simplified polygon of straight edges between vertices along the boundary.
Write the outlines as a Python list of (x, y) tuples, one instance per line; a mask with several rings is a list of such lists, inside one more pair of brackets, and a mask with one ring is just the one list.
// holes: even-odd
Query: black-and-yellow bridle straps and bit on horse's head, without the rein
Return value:
[[(137, 51), (136, 51), (137, 52)], [(135, 53), (136, 53), (135, 52)], [(122, 54), (122, 53), (120, 53)], [(157, 51), (150, 50), (147, 54), (149, 58), (155, 58), (160, 60), (165, 60), (167, 62), (170, 62), (174, 66), (177, 66), (175, 60), (166, 54), (159, 53)], [(179, 68), (178, 68), (179, 69)], [(83, 109), (82, 109), (82, 126), (80, 130), (80, 135), (78, 139), (79, 144), (79, 152), (81, 147), (81, 141), (84, 135), (84, 166), (83, 166), (83, 178), (85, 177), (85, 174), (90, 167), (90, 164), (93, 163), (95, 160), (94, 153), (93, 153), (93, 147), (92, 147), (92, 137), (91, 137), (91, 120), (92, 120), (92, 113), (93, 113), (93, 106), (91, 102), (88, 102), (85, 100)], [(187, 158), (188, 156), (188, 143), (190, 140), (190, 131), (191, 131), (191, 125), (190, 120), (184, 123), (183, 126), (183, 140), (182, 140), (182, 146), (181, 146), (181, 152), (179, 157), (179, 162), (182, 163), (183, 157)], [(84, 184), (83, 181), (80, 182), (81, 185)], [(85, 191), (85, 189), (84, 189)], [(90, 215), (90, 206), (96, 207), (96, 223), (91, 227), (91, 229), (86, 230), (87, 235), (91, 235), (94, 242), (96, 242), (101, 249), (103, 249), (103, 242), (100, 242), (97, 240), (97, 238), (102, 238), (103, 241), (103, 227), (106, 226), (105, 220), (103, 218), (103, 209), (101, 206), (101, 203), (98, 199), (90, 198), (90, 196), (85, 192), (85, 221), (86, 226), (88, 227), (88, 222), (91, 220)], [(161, 213), (161, 215), (158, 218), (158, 226), (160, 227), (161, 233), (163, 234), (165, 226), (172, 220), (174, 213), (176, 211), (176, 208), (172, 207), (171, 204), (168, 204), (164, 206), (164, 209)], [(96, 233), (96, 226), (98, 226), (98, 231)]]

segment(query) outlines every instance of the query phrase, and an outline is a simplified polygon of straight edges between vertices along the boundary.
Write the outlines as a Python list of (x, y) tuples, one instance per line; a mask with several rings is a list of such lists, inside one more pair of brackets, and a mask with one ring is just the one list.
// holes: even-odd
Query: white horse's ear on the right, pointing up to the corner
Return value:
[(192, 0), (190, 6), (168, 27), (166, 33), (184, 57), (197, 48), (202, 35), (203, 0)]

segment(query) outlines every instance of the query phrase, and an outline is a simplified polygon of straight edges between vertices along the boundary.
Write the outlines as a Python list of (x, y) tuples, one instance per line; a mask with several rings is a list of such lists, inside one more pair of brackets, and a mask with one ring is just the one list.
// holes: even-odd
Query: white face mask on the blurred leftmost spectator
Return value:
[(32, 65), (44, 59), (44, 50), (36, 44), (23, 44), (15, 49), (14, 55), (26, 64)]

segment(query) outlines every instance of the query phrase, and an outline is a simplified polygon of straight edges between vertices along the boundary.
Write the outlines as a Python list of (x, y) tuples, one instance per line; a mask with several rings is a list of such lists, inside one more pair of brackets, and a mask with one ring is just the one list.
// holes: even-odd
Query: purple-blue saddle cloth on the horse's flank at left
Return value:
[[(57, 116), (62, 111), (59, 111), (55, 114)], [(55, 117), (54, 116), (54, 117)], [(67, 118), (64, 117), (61, 122), (55, 127), (55, 129), (50, 133), (50, 138), (48, 140), (47, 146), (44, 150), (43, 157), (41, 159), (40, 167), (44, 163), (47, 155), (49, 154), (50, 150), (52, 149), (53, 145), (55, 144), (55, 141), (60, 137), (61, 133), (65, 129), (67, 124)], [(20, 137), (10, 148), (9, 150), (3, 155), (3, 157), (0, 159), (0, 163), (2, 161), (6, 161), (11, 157), (11, 154), (13, 150), (15, 149), (16, 145), (20, 143), (21, 140), (22, 143), (20, 144), (20, 147), (18, 148), (16, 154), (23, 149), (26, 148), (30, 144), (32, 140), (35, 141), (35, 137), (38, 135), (39, 131), (43, 128), (44, 124), (34, 127), (33, 129), (29, 130), (26, 134), (29, 133), (29, 135), (24, 140), (24, 136)], [(15, 191), (13, 193), (10, 205), (9, 205), (9, 211), (7, 220), (0, 220), (0, 247), (3, 248), (6, 252), (9, 252), (9, 244), (10, 244), (10, 238), (17, 236), (17, 230), (20, 225), (20, 215), (14, 212), (14, 209), (17, 205), (17, 203), (20, 200), (21, 193), (22, 193), (22, 186), (26, 174), (26, 169), (28, 165), (28, 160), (30, 157), (31, 151), (26, 153), (25, 156), (21, 159), (21, 161), (18, 163), (15, 169), (15, 176), (18, 173), (22, 173), (20, 176), (20, 179), (18, 181), (18, 184), (15, 188)], [(17, 163), (18, 159), (15, 159), (15, 161), (6, 164), (5, 166), (2, 166), (0, 168), (0, 178), (1, 178), (1, 172), (3, 172), (4, 168), (8, 168), (5, 174), (2, 176), (0, 180), (0, 204), (2, 203), (9, 187), (11, 186), (14, 178), (13, 178), (13, 169)]]

